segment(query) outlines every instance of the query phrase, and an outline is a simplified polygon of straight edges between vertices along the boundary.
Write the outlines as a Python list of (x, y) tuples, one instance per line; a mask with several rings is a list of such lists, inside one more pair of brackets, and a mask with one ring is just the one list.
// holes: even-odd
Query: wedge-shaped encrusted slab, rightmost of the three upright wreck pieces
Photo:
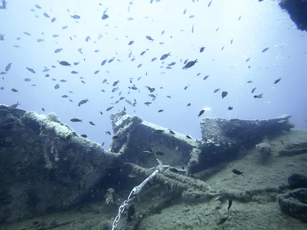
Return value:
[(289, 123), (291, 116), (283, 115), (267, 120), (240, 120), (202, 118), (201, 154), (198, 163), (191, 167), (196, 173), (216, 164), (233, 160), (245, 154), (266, 136), (276, 136), (294, 127)]

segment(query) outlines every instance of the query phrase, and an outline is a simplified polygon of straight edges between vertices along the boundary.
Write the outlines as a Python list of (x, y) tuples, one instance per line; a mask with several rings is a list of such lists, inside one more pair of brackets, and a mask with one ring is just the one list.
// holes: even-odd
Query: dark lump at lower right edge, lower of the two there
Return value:
[(307, 223), (307, 189), (296, 189), (278, 195), (281, 212)]

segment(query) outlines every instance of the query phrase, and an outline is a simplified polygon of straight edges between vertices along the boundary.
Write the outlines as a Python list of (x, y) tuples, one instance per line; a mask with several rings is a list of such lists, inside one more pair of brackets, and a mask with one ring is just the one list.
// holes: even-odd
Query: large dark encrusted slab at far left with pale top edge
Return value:
[[(117, 154), (76, 135), (50, 113), (0, 110), (0, 222), (72, 208), (105, 193)], [(100, 181), (105, 181), (100, 183)]]

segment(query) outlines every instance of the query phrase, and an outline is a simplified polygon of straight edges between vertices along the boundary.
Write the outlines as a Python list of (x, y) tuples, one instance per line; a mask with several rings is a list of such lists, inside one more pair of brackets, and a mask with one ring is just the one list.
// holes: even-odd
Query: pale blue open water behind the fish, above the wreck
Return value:
[[(211, 111), (205, 111), (202, 117), (267, 119), (291, 114), (296, 128), (307, 128), (305, 32), (296, 29), (276, 1), (213, 0), (208, 7), (209, 2), (7, 0), (7, 9), (0, 10), (0, 33), (4, 35), (0, 40), (0, 72), (5, 72), (9, 63), (12, 65), (7, 74), (0, 76), (0, 87), (4, 87), (0, 90), (0, 103), (11, 105), (18, 101), (20, 108), (30, 111), (55, 112), (78, 134), (86, 134), (98, 143), (105, 142), (105, 146), (111, 142), (111, 136), (105, 134), (112, 132), (109, 114), (123, 107), (130, 115), (137, 114), (148, 122), (197, 139), (201, 137), (198, 114), (205, 107)], [(105, 10), (109, 18), (102, 20)], [(80, 19), (70, 15), (79, 15)], [(51, 22), (54, 17), (56, 20)], [(62, 29), (64, 26), (67, 29)], [(86, 42), (87, 36), (91, 39)], [(131, 40), (134, 44), (128, 45)], [(203, 46), (206, 48), (200, 53)], [(261, 52), (268, 47), (268, 51)], [(54, 52), (60, 48), (63, 50)], [(171, 56), (162, 64), (160, 57), (169, 52)], [(104, 59), (113, 57), (113, 62), (101, 66)], [(151, 62), (155, 57), (158, 60)], [(132, 58), (135, 60), (131, 61)], [(186, 59), (198, 62), (182, 70)], [(72, 65), (63, 66), (59, 61)], [(166, 69), (171, 62), (176, 64), (171, 70)], [(139, 64), (142, 66), (138, 68)], [(42, 72), (45, 67), (50, 71)], [(46, 74), (50, 77), (45, 77)], [(26, 78), (31, 81), (24, 81)], [(281, 81), (274, 84), (278, 78)], [(109, 84), (103, 84), (104, 79)], [(117, 80), (119, 89), (112, 93), (112, 84)], [(56, 84), (59, 89), (54, 88)], [(128, 88), (133, 84), (138, 90)], [(151, 93), (145, 86), (156, 89), (152, 93), (156, 95), (155, 101), (148, 96)], [(185, 90), (185, 86), (189, 87)], [(257, 89), (252, 94), (254, 87)], [(18, 92), (14, 93), (12, 88)], [(221, 90), (213, 93), (216, 88)], [(70, 90), (73, 94), (68, 93)], [(222, 91), (228, 92), (224, 99)], [(253, 97), (260, 94), (262, 98)], [(121, 100), (106, 111), (120, 97), (132, 103), (136, 100), (136, 107)], [(79, 107), (78, 103), (84, 99), (89, 102)], [(145, 102), (152, 104), (147, 106)], [(228, 110), (229, 106), (233, 110)], [(159, 109), (164, 111), (158, 112)], [(73, 123), (72, 118), (83, 122)], [(90, 121), (96, 126), (90, 125)]]

